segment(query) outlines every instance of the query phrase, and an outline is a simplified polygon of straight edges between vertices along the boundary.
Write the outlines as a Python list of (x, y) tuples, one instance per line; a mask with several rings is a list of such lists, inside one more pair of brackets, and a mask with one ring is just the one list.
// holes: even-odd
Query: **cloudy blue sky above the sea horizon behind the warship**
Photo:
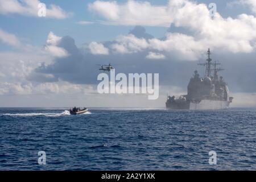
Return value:
[[(193, 71), (203, 76), (208, 48), (232, 106), (256, 107), (255, 16), (255, 0), (0, 0), (0, 107), (161, 108), (167, 93), (187, 92)], [(96, 64), (109, 63), (159, 73), (158, 100), (98, 94)]]

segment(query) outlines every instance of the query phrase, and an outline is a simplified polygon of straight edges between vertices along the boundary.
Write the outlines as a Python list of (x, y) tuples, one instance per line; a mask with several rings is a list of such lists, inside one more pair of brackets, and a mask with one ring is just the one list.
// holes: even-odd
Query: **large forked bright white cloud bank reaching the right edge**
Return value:
[[(114, 9), (114, 14), (108, 15), (110, 11), (103, 6), (106, 3)], [(256, 48), (256, 18), (253, 15), (241, 14), (237, 18), (222, 18), (216, 13), (212, 18), (207, 5), (203, 3), (170, 0), (167, 6), (153, 6), (148, 2), (133, 0), (124, 4), (96, 1), (89, 8), (113, 24), (166, 27), (172, 24), (192, 32), (192, 35), (170, 32), (165, 39), (148, 40), (136, 38), (134, 35), (119, 36), (110, 46), (116, 53), (150, 49), (152, 52), (166, 51), (180, 59), (197, 60), (207, 48), (232, 53), (249, 53)]]

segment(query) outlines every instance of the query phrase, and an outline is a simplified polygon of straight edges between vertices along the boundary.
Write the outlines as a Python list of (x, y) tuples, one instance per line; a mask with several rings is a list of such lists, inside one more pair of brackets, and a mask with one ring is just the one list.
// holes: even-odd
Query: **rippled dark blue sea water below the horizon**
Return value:
[(255, 141), (256, 109), (0, 109), (0, 170), (256, 170)]

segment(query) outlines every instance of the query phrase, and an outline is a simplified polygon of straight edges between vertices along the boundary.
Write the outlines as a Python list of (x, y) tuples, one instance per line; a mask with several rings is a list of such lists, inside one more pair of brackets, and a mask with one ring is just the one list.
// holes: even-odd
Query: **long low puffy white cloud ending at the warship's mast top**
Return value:
[(168, 55), (175, 52), (180, 60), (197, 60), (205, 52), (205, 47), (208, 46), (208, 44), (195, 40), (193, 36), (167, 33), (164, 39), (153, 38), (148, 40), (137, 38), (132, 34), (118, 36), (114, 43), (110, 45), (110, 48), (114, 53), (121, 54), (150, 50), (147, 59), (165, 59), (166, 56), (154, 52), (161, 51)]

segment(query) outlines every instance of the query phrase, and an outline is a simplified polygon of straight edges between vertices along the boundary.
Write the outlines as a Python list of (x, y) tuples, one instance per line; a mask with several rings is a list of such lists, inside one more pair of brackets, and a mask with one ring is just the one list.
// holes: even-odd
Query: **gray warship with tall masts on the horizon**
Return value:
[[(200, 78), (197, 71), (188, 84), (187, 95), (175, 98), (168, 96), (166, 101), (167, 109), (189, 109), (189, 110), (217, 110), (228, 109), (233, 97), (229, 97), (228, 84), (223, 77), (218, 77), (218, 72), (224, 69), (217, 68), (220, 63), (212, 63), (210, 59), (210, 49), (208, 49), (208, 59), (206, 63), (199, 64), (205, 66), (205, 75)], [(213, 75), (212, 75), (213, 73)]]

